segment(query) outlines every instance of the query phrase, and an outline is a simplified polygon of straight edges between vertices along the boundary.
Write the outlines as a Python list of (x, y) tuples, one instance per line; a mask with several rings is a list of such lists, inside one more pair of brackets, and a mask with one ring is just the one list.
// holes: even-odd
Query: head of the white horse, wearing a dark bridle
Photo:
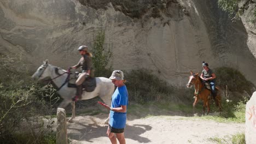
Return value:
[(43, 80), (45, 77), (48, 77), (49, 75), (45, 73), (45, 71), (48, 69), (48, 59), (46, 59), (42, 65), (37, 69), (37, 71), (32, 75), (32, 79), (39, 79)]

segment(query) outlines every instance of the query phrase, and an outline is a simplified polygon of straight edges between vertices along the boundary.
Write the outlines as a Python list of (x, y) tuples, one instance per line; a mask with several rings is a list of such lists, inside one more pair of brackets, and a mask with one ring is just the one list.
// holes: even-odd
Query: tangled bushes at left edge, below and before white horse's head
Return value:
[(12, 63), (20, 63), (18, 57), (2, 55), (0, 71), (6, 75), (0, 77), (0, 141), (49, 143), (45, 142), (49, 141), (45, 137), (53, 133), (53, 123), (47, 122), (50, 121), (49, 118), (43, 121), (42, 116), (49, 115), (51, 110), (45, 99), (40, 99), (39, 96), (51, 90), (40, 89), (37, 83), (31, 81), (26, 71), (11, 67)]

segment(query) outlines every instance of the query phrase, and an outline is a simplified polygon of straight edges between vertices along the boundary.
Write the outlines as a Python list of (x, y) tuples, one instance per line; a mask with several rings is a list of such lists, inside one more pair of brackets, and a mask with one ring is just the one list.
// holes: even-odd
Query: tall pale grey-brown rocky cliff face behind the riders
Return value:
[[(67, 68), (77, 63), (80, 45), (92, 46), (106, 31), (114, 69), (147, 68), (170, 83), (184, 85), (189, 71), (238, 68), (256, 85), (255, 27), (231, 22), (212, 0), (169, 0), (132, 17), (124, 7), (103, 8), (78, 0), (2, 0), (0, 53), (19, 54), (35, 70), (43, 60)], [(157, 15), (156, 15), (157, 14)]]

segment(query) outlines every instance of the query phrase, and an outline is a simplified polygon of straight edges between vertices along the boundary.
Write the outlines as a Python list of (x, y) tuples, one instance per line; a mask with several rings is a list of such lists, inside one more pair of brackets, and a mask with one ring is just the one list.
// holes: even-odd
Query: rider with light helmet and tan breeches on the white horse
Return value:
[(77, 93), (75, 97), (72, 99), (73, 101), (77, 101), (78, 99), (82, 99), (82, 84), (85, 81), (86, 77), (93, 77), (94, 70), (92, 69), (92, 54), (88, 51), (88, 46), (82, 45), (77, 49), (82, 56), (77, 63), (71, 69), (77, 69), (81, 67), (82, 73), (78, 75), (77, 81), (75, 81), (75, 85), (77, 85)]

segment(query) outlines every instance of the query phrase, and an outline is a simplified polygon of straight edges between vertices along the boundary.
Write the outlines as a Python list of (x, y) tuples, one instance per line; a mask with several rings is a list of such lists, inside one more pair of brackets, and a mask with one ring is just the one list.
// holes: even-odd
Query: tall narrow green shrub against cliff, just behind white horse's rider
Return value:
[(108, 77), (111, 74), (111, 66), (107, 69), (110, 58), (113, 56), (111, 46), (108, 47), (104, 44), (105, 32), (103, 30), (99, 31), (94, 38), (94, 45), (92, 46), (92, 61), (95, 68), (95, 76), (105, 76)]

